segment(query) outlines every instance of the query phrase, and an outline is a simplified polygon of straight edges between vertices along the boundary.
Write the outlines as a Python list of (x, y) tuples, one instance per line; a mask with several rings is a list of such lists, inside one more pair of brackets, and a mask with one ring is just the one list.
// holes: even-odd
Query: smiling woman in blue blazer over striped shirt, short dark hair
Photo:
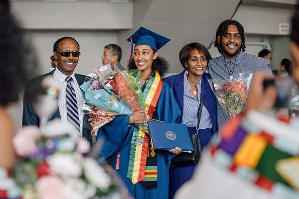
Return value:
[[(204, 148), (218, 131), (216, 98), (208, 83), (210, 75), (205, 73), (211, 55), (202, 44), (190, 43), (180, 50), (179, 60), (185, 70), (163, 81), (170, 84), (182, 115), (180, 123), (187, 125), (190, 134), (196, 131), (197, 111), (200, 99), (203, 99), (198, 135), (201, 148)], [(170, 168), (170, 198), (183, 183), (190, 180), (195, 167), (196, 164)]]

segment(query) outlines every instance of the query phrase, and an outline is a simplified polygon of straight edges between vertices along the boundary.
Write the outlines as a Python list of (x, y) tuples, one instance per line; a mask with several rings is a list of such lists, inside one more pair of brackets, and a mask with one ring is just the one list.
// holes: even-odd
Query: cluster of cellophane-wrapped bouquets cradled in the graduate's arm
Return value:
[[(100, 127), (112, 121), (117, 115), (131, 115), (145, 109), (145, 100), (137, 78), (126, 71), (120, 71), (110, 64), (97, 67), (95, 72), (80, 86), (85, 98), (83, 110), (89, 115), (92, 140), (96, 141)], [(146, 124), (135, 124), (149, 133)]]

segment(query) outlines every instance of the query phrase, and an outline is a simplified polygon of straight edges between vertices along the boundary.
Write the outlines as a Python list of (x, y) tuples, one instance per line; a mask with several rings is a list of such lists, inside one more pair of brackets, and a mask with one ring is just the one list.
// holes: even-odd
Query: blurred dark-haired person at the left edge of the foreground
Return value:
[(0, 1), (0, 198), (17, 198), (18, 191), (8, 178), (14, 161), (13, 120), (6, 108), (18, 100), (27, 80), (28, 49), (22, 31), (11, 15), (9, 2)]

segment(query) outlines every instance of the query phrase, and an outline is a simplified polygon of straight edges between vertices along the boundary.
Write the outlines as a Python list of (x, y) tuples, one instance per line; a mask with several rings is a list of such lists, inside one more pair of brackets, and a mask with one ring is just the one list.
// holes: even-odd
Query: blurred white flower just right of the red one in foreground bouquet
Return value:
[(80, 156), (55, 153), (47, 158), (47, 163), (53, 174), (62, 177), (80, 177), (82, 175)]

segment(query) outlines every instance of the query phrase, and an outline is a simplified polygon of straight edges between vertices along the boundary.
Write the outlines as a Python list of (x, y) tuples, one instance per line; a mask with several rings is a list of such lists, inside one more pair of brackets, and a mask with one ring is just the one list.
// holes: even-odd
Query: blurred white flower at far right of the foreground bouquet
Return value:
[(83, 164), (85, 177), (91, 184), (102, 190), (109, 188), (111, 177), (94, 159), (86, 158)]

